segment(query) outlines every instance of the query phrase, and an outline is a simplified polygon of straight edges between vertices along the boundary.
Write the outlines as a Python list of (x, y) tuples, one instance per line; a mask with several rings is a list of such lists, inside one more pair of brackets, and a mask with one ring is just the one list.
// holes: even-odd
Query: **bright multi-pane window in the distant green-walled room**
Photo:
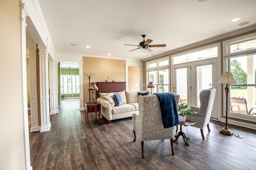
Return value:
[(62, 94), (79, 93), (79, 75), (61, 75), (60, 90)]

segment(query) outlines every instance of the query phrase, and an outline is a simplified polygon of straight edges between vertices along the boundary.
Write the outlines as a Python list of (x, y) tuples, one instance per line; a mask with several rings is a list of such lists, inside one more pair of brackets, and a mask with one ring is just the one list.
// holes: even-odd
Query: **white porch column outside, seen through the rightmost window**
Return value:
[[(247, 84), (254, 84), (254, 57), (253, 55), (247, 56)], [(248, 111), (255, 105), (255, 88), (254, 86), (247, 87), (247, 108)]]

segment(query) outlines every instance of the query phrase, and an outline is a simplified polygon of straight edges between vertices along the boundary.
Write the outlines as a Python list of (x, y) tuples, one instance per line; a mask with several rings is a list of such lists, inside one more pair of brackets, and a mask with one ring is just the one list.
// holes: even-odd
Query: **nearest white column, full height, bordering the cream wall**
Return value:
[[(21, 56), (22, 56), (22, 93), (23, 93), (23, 119), (24, 119), (24, 150), (25, 150), (25, 169), (32, 169), (30, 164), (30, 145), (29, 145), (29, 133), (28, 133), (28, 98), (27, 98), (27, 71), (26, 71), (26, 16), (28, 16), (28, 10), (24, 6), (25, 4), (20, 2), (20, 32), (21, 32)], [(10, 141), (11, 142), (11, 141)]]

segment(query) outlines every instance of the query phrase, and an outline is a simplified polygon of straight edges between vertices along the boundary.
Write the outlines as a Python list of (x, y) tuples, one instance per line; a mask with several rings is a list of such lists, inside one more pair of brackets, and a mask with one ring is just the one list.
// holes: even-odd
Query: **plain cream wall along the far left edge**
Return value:
[(0, 169), (25, 169), (19, 1), (0, 1)]

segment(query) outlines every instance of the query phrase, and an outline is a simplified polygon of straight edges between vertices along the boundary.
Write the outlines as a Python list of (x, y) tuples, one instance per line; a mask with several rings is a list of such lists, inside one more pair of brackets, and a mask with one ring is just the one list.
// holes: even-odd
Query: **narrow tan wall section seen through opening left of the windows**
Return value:
[(140, 91), (140, 68), (137, 66), (128, 67), (128, 90), (130, 92)]

